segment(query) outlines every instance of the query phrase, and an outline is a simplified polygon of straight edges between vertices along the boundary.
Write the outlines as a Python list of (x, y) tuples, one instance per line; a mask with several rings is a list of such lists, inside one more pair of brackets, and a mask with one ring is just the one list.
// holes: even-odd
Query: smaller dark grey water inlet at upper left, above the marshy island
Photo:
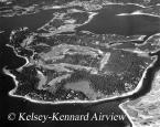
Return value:
[(13, 29), (28, 27), (30, 30), (35, 31), (53, 18), (55, 10), (44, 10), (38, 13), (28, 15), (15, 15), (10, 18), (0, 18), (0, 30), (11, 31)]

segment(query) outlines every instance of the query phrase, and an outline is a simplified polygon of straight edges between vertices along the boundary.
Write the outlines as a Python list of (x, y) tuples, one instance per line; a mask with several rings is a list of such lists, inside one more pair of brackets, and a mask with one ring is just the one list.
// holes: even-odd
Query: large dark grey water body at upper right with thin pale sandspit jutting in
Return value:
[(114, 4), (103, 8), (86, 24), (76, 28), (77, 31), (90, 31), (96, 34), (147, 35), (160, 32), (160, 18), (153, 15), (117, 15), (131, 13), (141, 9), (134, 4)]

